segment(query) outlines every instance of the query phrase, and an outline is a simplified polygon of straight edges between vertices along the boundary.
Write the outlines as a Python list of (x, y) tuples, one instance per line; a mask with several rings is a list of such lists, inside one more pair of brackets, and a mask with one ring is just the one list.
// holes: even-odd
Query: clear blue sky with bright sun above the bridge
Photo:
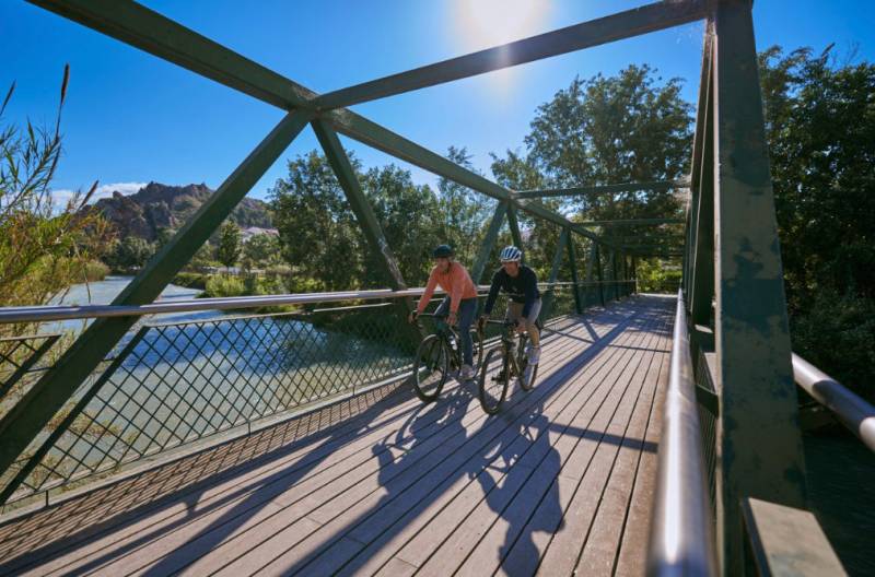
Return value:
[[(231, 0), (144, 2), (158, 12), (313, 89), (416, 68), (646, 2), (534, 0)], [(792, 4), (792, 10), (790, 7)], [(497, 10), (498, 8), (498, 10)], [(757, 0), (757, 46), (835, 42), (842, 55), (875, 60), (872, 0)], [(695, 102), (702, 24), (695, 23), (572, 55), (366, 103), (354, 109), (429, 149), (467, 146), (488, 173), (490, 152), (522, 149), (535, 108), (580, 74), (615, 74), (649, 63), (686, 80)], [(50, 122), (65, 62), (65, 156), (55, 188), (100, 180), (135, 191), (155, 180), (215, 188), (280, 120), (282, 111), (19, 0), (0, 1), (0, 90), (18, 83), (5, 121)], [(365, 166), (396, 162), (418, 182), (436, 178), (345, 140)], [(306, 129), (250, 192), (264, 198), (285, 158), (317, 148)], [(113, 186), (114, 185), (114, 186)]]

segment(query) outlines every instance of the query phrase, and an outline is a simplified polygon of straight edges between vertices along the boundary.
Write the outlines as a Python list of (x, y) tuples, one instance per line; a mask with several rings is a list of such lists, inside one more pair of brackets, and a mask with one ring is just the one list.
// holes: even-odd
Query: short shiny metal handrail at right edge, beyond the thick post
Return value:
[(793, 353), (793, 379), (875, 451), (875, 407), (796, 353)]

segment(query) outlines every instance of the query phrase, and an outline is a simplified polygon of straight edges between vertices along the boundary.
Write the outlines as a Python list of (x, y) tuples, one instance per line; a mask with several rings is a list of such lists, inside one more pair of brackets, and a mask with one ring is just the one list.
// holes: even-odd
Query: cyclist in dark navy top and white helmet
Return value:
[(537, 365), (540, 361), (540, 331), (537, 327), (540, 314), (540, 292), (538, 291), (538, 276), (530, 268), (522, 264), (523, 251), (515, 246), (508, 246), (501, 251), (501, 268), (492, 275), (492, 286), (486, 299), (483, 315), (480, 322), (486, 322), (495, 305), (499, 291), (510, 297), (506, 320), (516, 321), (516, 331), (528, 331), (529, 348), (528, 362)]

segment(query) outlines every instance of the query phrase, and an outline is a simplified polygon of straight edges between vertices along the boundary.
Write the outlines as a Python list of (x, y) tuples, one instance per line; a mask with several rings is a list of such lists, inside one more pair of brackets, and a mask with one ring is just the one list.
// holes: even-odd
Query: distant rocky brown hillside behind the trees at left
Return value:
[[(212, 193), (207, 185), (175, 187), (149, 182), (133, 195), (113, 192), (112, 198), (95, 202), (94, 210), (116, 226), (119, 237), (139, 236), (153, 242), (161, 228), (177, 229), (185, 224)], [(248, 198), (234, 209), (231, 221), (241, 228), (272, 227), (267, 203)]]

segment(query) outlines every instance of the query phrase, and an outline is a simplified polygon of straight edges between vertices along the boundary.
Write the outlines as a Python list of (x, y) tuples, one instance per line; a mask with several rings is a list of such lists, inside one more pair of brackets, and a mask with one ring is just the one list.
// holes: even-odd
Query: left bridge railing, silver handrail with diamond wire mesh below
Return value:
[[(598, 287), (609, 288), (604, 292), (617, 298), (634, 292), (633, 281), (542, 283), (541, 320), (558, 321), (580, 313), (579, 307), (600, 304)], [(180, 458), (325, 402), (400, 384), (409, 375), (418, 333), (404, 322), (399, 305), (422, 292), (201, 298), (138, 307), (4, 308), (0, 323), (219, 310), (232, 315), (139, 321), (0, 478), (0, 503), (31, 503), (36, 497), (48, 503), (49, 492), (60, 495), (144, 461), (158, 464)], [(245, 313), (280, 305), (298, 309)], [(498, 303), (495, 314), (501, 311), (502, 303)], [(45, 338), (55, 343), (57, 335)], [(19, 345), (7, 344), (10, 351)], [(28, 351), (34, 350), (42, 349), (30, 344)], [(30, 370), (21, 366), (21, 362), (0, 363), (0, 377), (8, 376), (0, 379), (4, 390), (14, 385), (16, 391), (0, 399), (0, 413), (12, 410), (36, 377), (51, 368), (50, 363)]]

